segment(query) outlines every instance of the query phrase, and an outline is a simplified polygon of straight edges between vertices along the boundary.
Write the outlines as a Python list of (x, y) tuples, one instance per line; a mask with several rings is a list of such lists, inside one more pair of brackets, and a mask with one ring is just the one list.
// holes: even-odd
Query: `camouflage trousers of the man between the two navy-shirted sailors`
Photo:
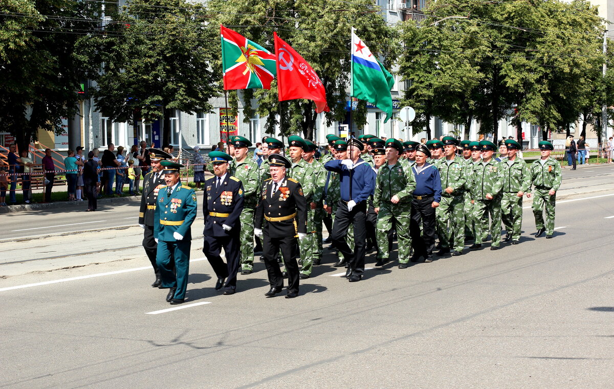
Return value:
[[(391, 209), (394, 207), (394, 211)], [(376, 238), (378, 241), (378, 259), (387, 260), (388, 231), (394, 224), (397, 228), (398, 263), (408, 263), (411, 256), (410, 236), (411, 204), (385, 204), (379, 208)]]

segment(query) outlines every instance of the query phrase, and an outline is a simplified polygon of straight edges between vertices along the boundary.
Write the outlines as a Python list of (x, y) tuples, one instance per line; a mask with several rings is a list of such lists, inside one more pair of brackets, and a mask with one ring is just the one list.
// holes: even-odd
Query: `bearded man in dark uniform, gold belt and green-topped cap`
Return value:
[[(203, 253), (217, 275), (216, 290), (224, 288), (224, 295), (236, 290), (239, 271), (239, 215), (243, 211), (243, 184), (228, 171), (232, 157), (223, 152), (209, 153), (214, 177), (204, 182), (204, 244)], [(226, 262), (220, 252), (224, 249)], [(224, 283), (224, 280), (226, 282)]]

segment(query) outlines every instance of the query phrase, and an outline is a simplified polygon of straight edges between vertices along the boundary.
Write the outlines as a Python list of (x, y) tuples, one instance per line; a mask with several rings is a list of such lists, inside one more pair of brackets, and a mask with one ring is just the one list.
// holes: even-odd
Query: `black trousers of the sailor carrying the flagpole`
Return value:
[[(343, 254), (343, 258), (348, 262), (352, 274), (356, 275), (362, 275), (365, 272), (366, 221), (366, 201), (356, 204), (351, 211), (348, 210), (348, 204), (345, 201), (339, 201), (331, 239), (333, 240), (333, 245), (338, 248), (341, 254)], [(354, 226), (354, 252), (352, 252), (345, 239), (350, 223)]]

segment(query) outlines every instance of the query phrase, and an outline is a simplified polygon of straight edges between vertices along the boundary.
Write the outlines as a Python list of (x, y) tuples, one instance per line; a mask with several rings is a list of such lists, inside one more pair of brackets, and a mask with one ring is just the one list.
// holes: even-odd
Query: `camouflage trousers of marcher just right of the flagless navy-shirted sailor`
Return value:
[(465, 215), (462, 194), (453, 197), (441, 197), (435, 209), (442, 248), (452, 248), (462, 252), (465, 247)]

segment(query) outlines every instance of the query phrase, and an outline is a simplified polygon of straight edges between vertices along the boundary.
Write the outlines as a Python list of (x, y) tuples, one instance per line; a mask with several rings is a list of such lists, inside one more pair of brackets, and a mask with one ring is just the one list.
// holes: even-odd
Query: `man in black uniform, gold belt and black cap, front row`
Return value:
[(301, 184), (286, 177), (292, 164), (285, 156), (271, 154), (268, 164), (271, 178), (262, 183), (254, 223), (254, 233), (264, 236), (265, 266), (271, 284), (265, 296), (277, 295), (284, 287), (284, 277), (275, 260), (281, 248), (288, 272), (286, 298), (295, 298), (298, 296), (298, 263), (294, 247), (297, 237), (305, 239), (307, 236), (307, 201)]

